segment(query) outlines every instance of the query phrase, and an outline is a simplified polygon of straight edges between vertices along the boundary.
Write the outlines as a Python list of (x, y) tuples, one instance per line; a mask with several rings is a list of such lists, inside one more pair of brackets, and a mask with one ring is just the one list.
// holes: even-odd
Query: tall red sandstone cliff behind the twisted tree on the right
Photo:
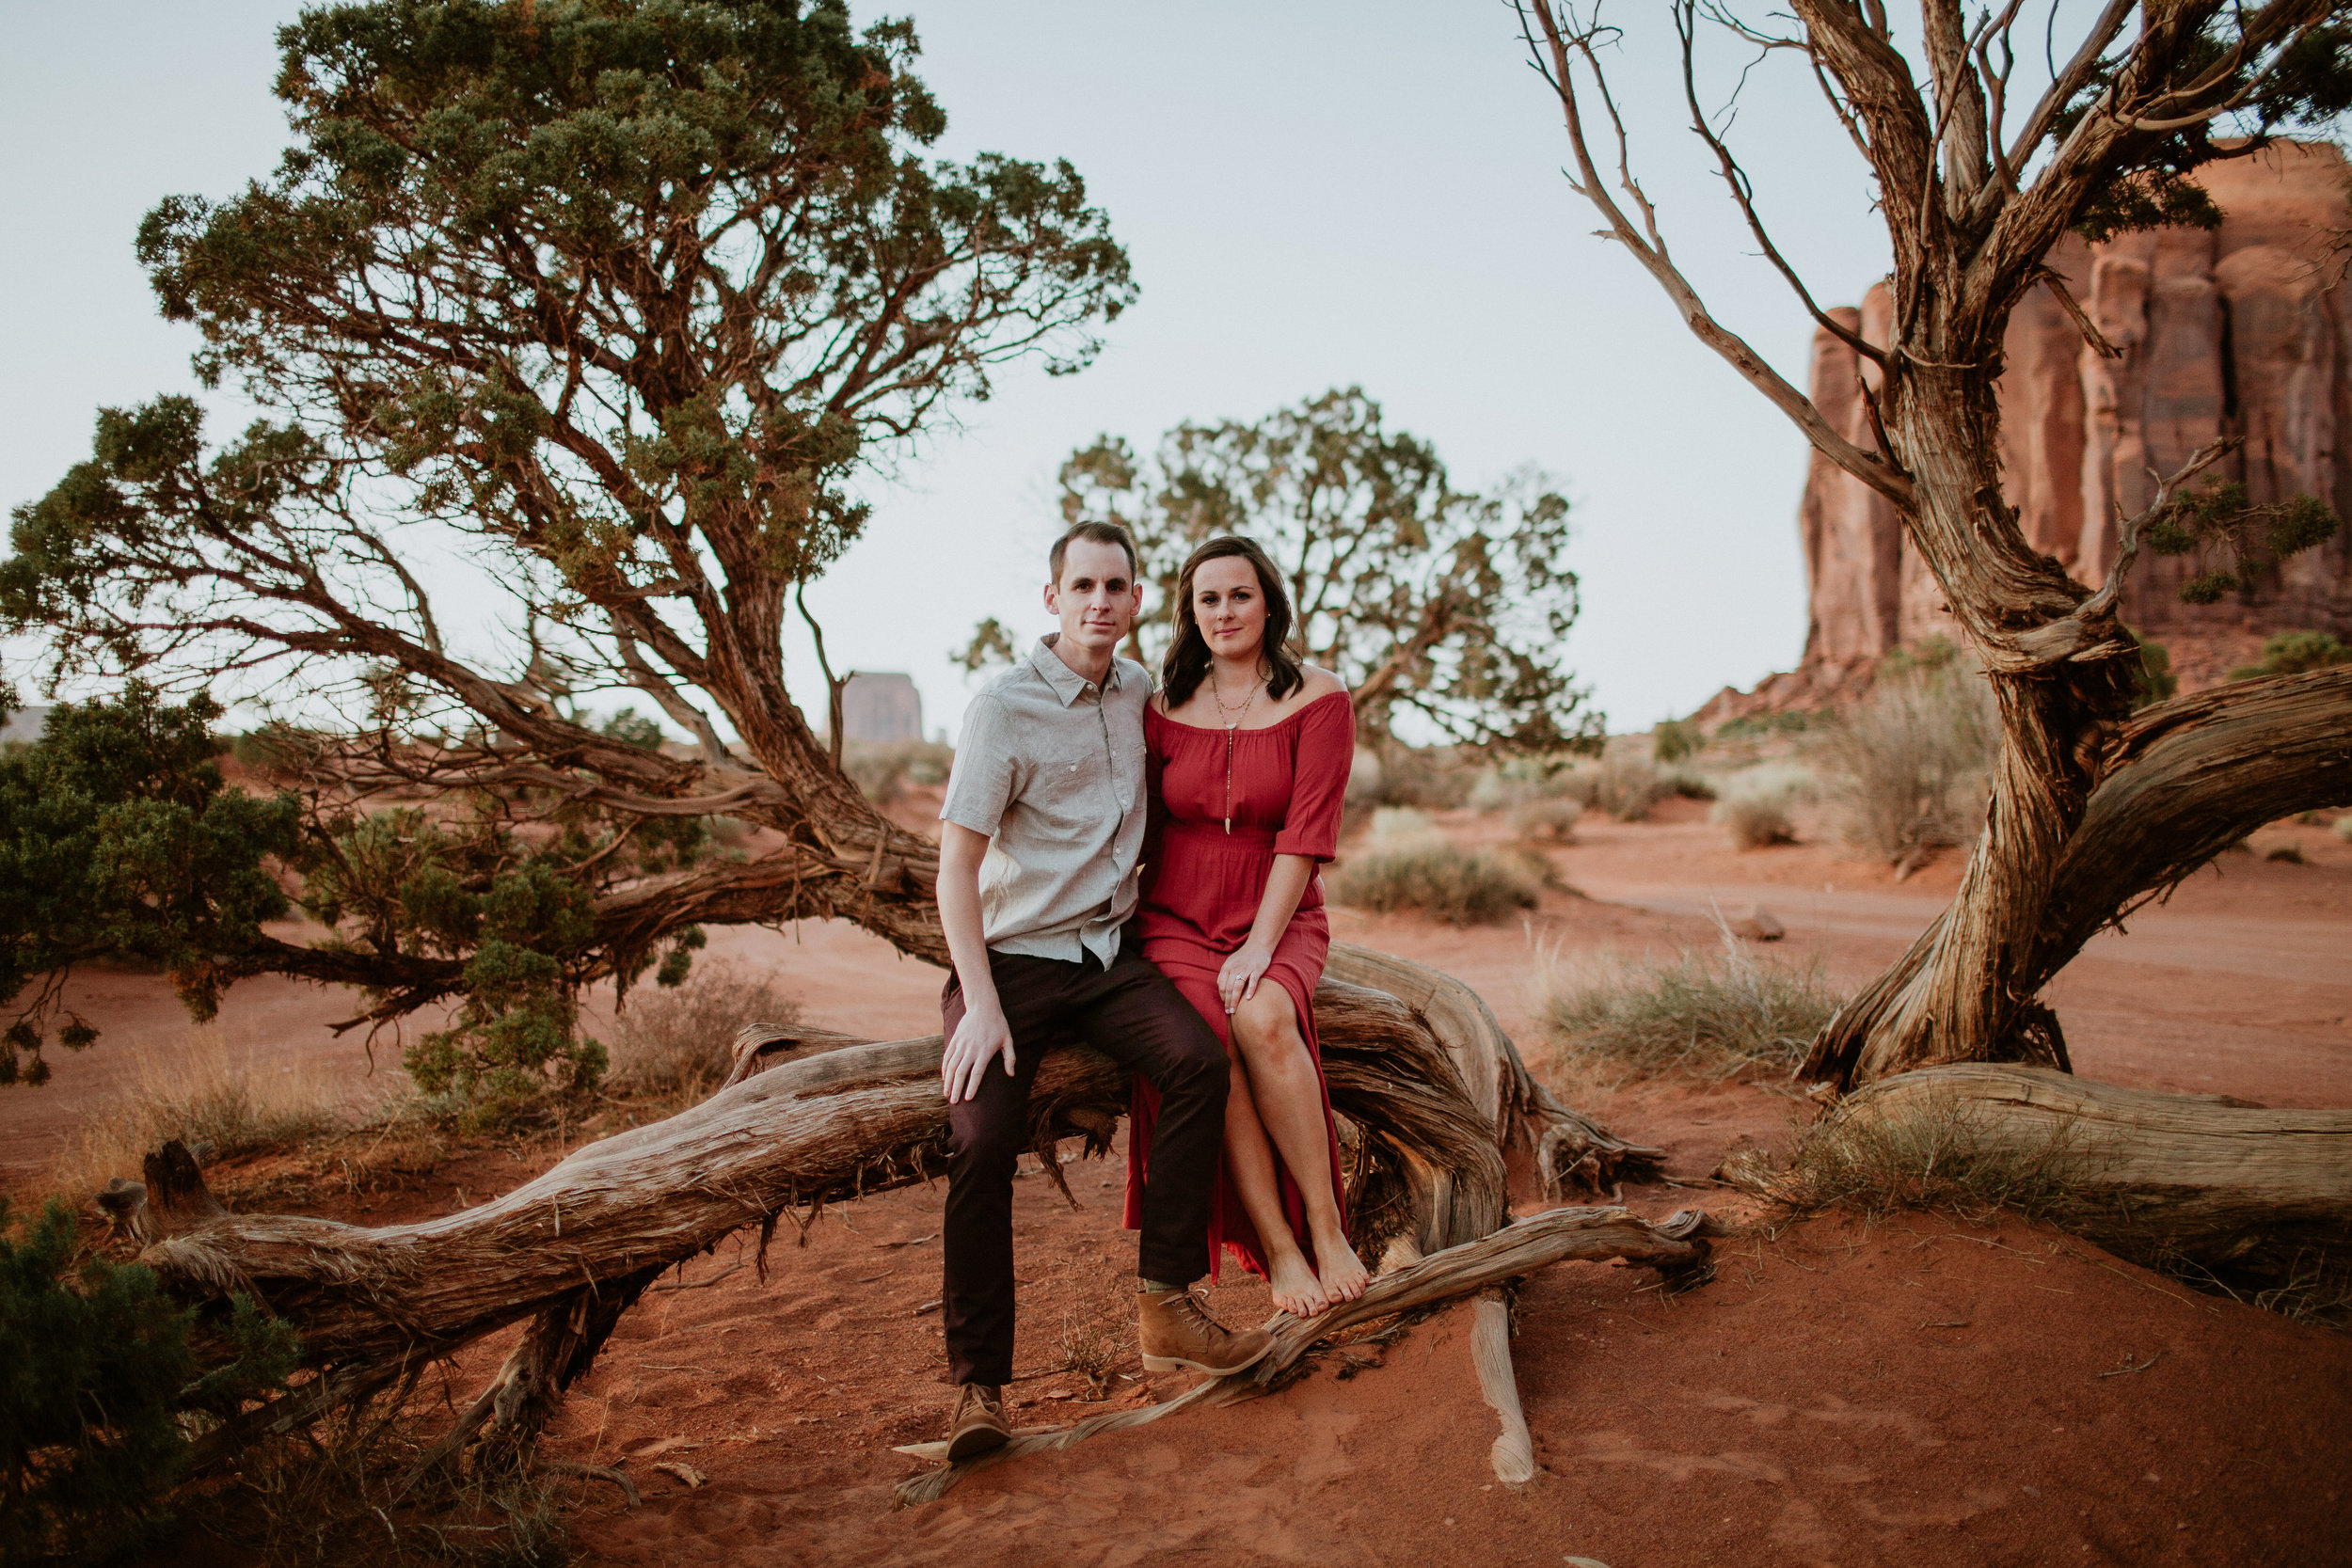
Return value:
[[(2216, 473), (2256, 501), (2317, 494), (2352, 515), (2352, 299), (2333, 287), (2331, 230), (2345, 228), (2345, 165), (2328, 146), (2279, 146), (2199, 174), (2225, 221), (2216, 233), (2161, 230), (2089, 247), (2067, 240), (2051, 268), (2122, 348), (2084, 346), (2049, 289), (2009, 324), (2002, 465), (2025, 538), (2086, 585), (2114, 564), (2117, 520), (2147, 503), (2150, 468), (2171, 473), (2216, 435), (2244, 447)], [(1839, 320), (1886, 341), (1889, 292)], [(1860, 357), (1813, 339), (1811, 393), (1856, 442), (1872, 444)], [(1875, 376), (1870, 367), (1870, 376)], [(1818, 454), (1799, 510), (1811, 628), (1806, 686), (1832, 689), (1898, 644), (1955, 635), (1943, 595), (1893, 508)], [(2352, 538), (2272, 571), (2256, 592), (2183, 604), (2185, 557), (2143, 555), (2126, 618), (2166, 642), (2187, 684), (2218, 679), (2270, 632), (2352, 637)]]

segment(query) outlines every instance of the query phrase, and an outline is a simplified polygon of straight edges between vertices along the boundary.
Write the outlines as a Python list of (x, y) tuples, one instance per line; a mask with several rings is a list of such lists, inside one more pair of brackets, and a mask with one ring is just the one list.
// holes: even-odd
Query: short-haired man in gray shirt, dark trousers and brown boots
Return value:
[(1136, 1316), (1143, 1366), (1237, 1373), (1263, 1331), (1225, 1333), (1192, 1295), (1209, 1272), (1209, 1190), (1225, 1135), (1225, 1048), (1120, 926), (1143, 853), (1143, 703), (1120, 658), (1143, 604), (1127, 529), (1054, 541), (1044, 637), (964, 710), (941, 806), (938, 919), (955, 978), (948, 1051), (946, 1335), (957, 1399), (948, 1458), (997, 1448), (1014, 1373), (1014, 1161), (1037, 1060), (1077, 1039), (1160, 1091), (1143, 1190)]

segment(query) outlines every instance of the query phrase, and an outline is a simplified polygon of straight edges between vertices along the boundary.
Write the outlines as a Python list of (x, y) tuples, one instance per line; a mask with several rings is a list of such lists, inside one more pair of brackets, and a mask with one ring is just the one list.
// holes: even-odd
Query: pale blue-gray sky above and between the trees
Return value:
[[(285, 146), (273, 28), (296, 5), (0, 0), (0, 498), (89, 451), (101, 404), (193, 390), (195, 334), (132, 261), (162, 195), (226, 195)], [(1183, 418), (1256, 418), (1359, 383), (1437, 444), (1456, 484), (1519, 463), (1564, 480), (1585, 614), (1569, 656), (1611, 729), (1790, 668), (1804, 642), (1804, 442), (1686, 334), (1559, 167), (1559, 113), (1501, 0), (1000, 0), (913, 12), (946, 158), (1068, 158), (1134, 259), (1141, 301), (1094, 369), (1009, 369), (875, 482), (875, 522), (809, 592), (837, 665), (908, 670), (950, 733), (946, 658), (981, 616), (1047, 630), (1054, 470), (1098, 433), (1150, 449)], [(1637, 174), (1717, 315), (1799, 381), (1811, 324), (1682, 129), (1656, 7), (1618, 82)], [(1656, 31), (1651, 31), (1656, 28)], [(1715, 45), (1729, 87), (1745, 59)], [(1785, 56), (1736, 146), (1823, 303), (1884, 273), (1860, 160)], [(223, 416), (242, 416), (216, 400)], [(216, 433), (233, 428), (216, 418)], [(5, 675), (26, 684), (21, 649)], [(811, 661), (795, 691), (821, 691)], [(26, 696), (31, 691), (26, 689)]]

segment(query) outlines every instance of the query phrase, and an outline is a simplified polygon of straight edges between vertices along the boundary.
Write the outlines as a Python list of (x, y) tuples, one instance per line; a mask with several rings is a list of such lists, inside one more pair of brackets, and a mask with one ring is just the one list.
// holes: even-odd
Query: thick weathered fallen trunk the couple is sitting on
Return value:
[[(1484, 1016), (1486, 1039), (1461, 1046), (1442, 1037), (1435, 1025), (1451, 1027), (1465, 1009), (1458, 999), (1451, 1011), (1430, 1006), (1451, 987), (1435, 971), (1397, 961), (1385, 973), (1416, 1001), (1329, 980), (1317, 1011), (1334, 1105), (1350, 1124), (1352, 1222), (1367, 1244), (1388, 1241), (1392, 1260), (1411, 1260), (1503, 1222), (1496, 1131), (1454, 1063), (1484, 1053), (1517, 1065), (1517, 1053), (1484, 1009), (1472, 1011)], [(320, 1368), (397, 1375), (532, 1319), (447, 1453), (482, 1429), (529, 1441), (666, 1267), (748, 1225), (762, 1227), (764, 1246), (786, 1213), (814, 1213), (943, 1166), (941, 1039), (840, 1041), (814, 1030), (746, 1030), (736, 1077), (703, 1105), (576, 1150), (515, 1192), (454, 1215), (379, 1229), (216, 1215), (151, 1244), (141, 1262), (183, 1300), (256, 1295), (296, 1324), (306, 1361)], [(1127, 1077), (1105, 1058), (1049, 1053), (1030, 1103), (1047, 1171), (1058, 1180), (1058, 1138), (1108, 1147), (1124, 1107)]]

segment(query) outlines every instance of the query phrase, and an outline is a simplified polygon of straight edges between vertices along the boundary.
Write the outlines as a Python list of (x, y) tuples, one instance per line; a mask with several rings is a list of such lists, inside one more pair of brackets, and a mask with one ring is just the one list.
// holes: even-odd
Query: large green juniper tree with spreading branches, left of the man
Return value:
[[(593, 1079), (576, 990), (682, 976), (706, 919), (936, 940), (910, 835), (788, 696), (783, 618), (936, 418), (1004, 364), (1094, 357), (1134, 284), (1084, 181), (934, 158), (913, 26), (844, 0), (381, 0), (278, 42), (278, 169), (136, 237), (200, 374), (263, 418), (101, 411), (12, 515), (0, 630), (42, 637), (49, 679), (268, 682), (282, 722), (238, 755), (303, 802), (186, 802), (273, 825), (249, 896), (52, 903), (134, 924), (207, 1006), (259, 971), (358, 985), (376, 1020), (459, 999), (412, 1067), (492, 1098)], [(437, 607), (447, 581), (475, 597)], [(336, 806), (386, 790), (430, 804)], [(701, 799), (779, 832), (783, 875), (710, 853)], [(26, 802), (0, 896), (64, 809)], [(139, 813), (103, 804), (75, 818), (89, 863), (155, 863), (162, 827), (118, 853)], [(327, 940), (249, 936), (280, 875)], [(16, 990), (127, 945), (0, 922)]]

